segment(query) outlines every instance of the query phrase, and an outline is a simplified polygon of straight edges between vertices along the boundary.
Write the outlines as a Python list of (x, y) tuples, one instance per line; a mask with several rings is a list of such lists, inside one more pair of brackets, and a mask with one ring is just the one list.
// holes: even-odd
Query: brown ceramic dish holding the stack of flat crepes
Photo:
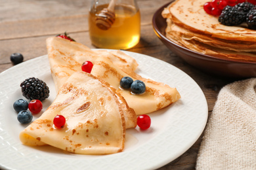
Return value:
[[(171, 1), (170, 3), (172, 3)], [(236, 78), (249, 78), (256, 77), (256, 62), (249, 61), (235, 61), (232, 59), (221, 59), (213, 56), (207, 56), (188, 48), (184, 48), (170, 41), (165, 37), (165, 28), (167, 26), (165, 18), (161, 16), (161, 12), (170, 3), (163, 5), (158, 9), (152, 19), (154, 31), (158, 38), (177, 56), (181, 57), (194, 67), (212, 73), (214, 75), (236, 77)]]

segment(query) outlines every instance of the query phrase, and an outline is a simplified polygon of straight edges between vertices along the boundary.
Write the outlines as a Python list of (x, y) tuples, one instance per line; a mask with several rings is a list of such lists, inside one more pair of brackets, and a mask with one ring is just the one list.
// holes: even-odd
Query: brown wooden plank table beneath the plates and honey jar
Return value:
[[(154, 33), (152, 16), (169, 0), (138, 0), (141, 13), (141, 39), (131, 52), (162, 59), (191, 76), (202, 88), (211, 114), (219, 90), (236, 79), (208, 75), (188, 65), (165, 47)], [(10, 56), (20, 52), (28, 61), (47, 54), (45, 39), (70, 33), (77, 42), (95, 48), (89, 39), (87, 16), (89, 0), (0, 0), (0, 73), (12, 67)], [(182, 156), (160, 169), (194, 169), (202, 136)], [(0, 161), (1, 162), (1, 161)]]

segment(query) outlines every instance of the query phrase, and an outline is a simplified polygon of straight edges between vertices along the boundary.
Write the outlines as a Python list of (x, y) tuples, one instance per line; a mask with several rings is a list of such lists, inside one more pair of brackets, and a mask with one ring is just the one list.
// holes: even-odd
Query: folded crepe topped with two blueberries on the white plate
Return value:
[[(96, 59), (91, 74), (102, 78), (115, 88), (116, 92), (125, 98), (129, 107), (135, 110), (137, 115), (163, 109), (181, 98), (176, 88), (171, 88), (161, 82), (142, 78), (142, 76), (131, 71), (131, 69), (121, 70), (108, 58)], [(119, 82), (123, 76), (130, 76), (133, 80), (142, 80), (146, 84), (146, 92), (135, 95), (130, 90), (119, 88)]]

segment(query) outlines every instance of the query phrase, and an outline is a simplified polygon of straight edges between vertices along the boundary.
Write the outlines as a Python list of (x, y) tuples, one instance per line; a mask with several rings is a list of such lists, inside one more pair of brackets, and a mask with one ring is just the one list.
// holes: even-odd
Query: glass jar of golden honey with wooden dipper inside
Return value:
[(90, 39), (97, 48), (125, 50), (140, 41), (136, 0), (92, 0), (88, 20)]

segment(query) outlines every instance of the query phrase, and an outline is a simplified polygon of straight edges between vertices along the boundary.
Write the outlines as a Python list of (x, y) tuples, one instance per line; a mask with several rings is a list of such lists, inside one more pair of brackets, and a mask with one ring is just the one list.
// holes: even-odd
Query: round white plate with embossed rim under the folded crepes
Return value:
[(150, 129), (128, 129), (123, 152), (104, 156), (75, 155), (52, 146), (30, 147), (20, 143), (18, 135), (26, 126), (18, 122), (12, 108), (14, 101), (25, 99), (20, 82), (35, 76), (47, 83), (50, 97), (43, 101), (43, 111), (56, 96), (48, 58), (41, 56), (0, 74), (0, 168), (157, 169), (188, 150), (207, 122), (207, 102), (202, 90), (190, 76), (169, 63), (134, 52), (125, 53), (137, 59), (139, 75), (176, 87), (181, 93), (179, 101), (150, 114)]

